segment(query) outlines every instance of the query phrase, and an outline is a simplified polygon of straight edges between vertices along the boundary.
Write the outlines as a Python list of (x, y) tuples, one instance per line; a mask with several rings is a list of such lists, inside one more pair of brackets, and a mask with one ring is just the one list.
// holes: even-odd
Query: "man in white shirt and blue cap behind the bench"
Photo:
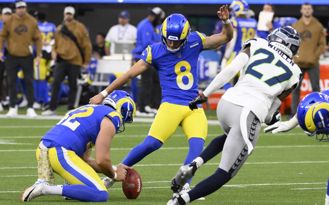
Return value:
[(120, 12), (118, 24), (112, 26), (105, 37), (105, 54), (111, 55), (114, 53), (114, 43), (117, 42), (136, 42), (137, 29), (129, 24), (130, 14), (127, 10)]

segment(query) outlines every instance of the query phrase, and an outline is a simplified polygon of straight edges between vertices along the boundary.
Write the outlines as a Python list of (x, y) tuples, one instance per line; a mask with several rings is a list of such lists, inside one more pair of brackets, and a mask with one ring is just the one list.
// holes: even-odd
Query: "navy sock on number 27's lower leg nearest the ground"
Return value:
[(231, 174), (218, 168), (213, 175), (200, 181), (191, 191), (188, 192), (190, 195), (190, 202), (217, 191), (220, 187), (230, 181), (230, 179)]

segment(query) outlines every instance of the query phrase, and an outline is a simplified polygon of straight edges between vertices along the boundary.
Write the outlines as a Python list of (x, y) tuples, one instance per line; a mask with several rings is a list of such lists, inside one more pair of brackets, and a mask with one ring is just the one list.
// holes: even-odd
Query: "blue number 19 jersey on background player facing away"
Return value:
[(239, 53), (241, 51), (244, 42), (250, 38), (253, 38), (257, 31), (257, 21), (254, 18), (236, 18), (232, 21), (233, 28), (238, 30), (237, 42), (233, 52)]

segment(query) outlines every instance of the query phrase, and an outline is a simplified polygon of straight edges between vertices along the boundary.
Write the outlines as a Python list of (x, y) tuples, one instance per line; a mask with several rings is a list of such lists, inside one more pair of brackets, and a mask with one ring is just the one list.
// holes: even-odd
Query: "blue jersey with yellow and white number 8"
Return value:
[(178, 55), (170, 54), (163, 48), (162, 43), (150, 45), (142, 52), (141, 58), (153, 65), (159, 73), (161, 103), (188, 106), (189, 102), (198, 96), (197, 64), (205, 41), (205, 34), (194, 31)]

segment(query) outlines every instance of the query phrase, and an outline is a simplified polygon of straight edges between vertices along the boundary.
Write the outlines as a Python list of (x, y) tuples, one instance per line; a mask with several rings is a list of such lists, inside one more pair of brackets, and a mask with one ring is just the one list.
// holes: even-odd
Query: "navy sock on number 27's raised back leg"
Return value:
[(210, 159), (212, 159), (214, 156), (219, 154), (221, 151), (223, 151), (224, 143), (226, 140), (227, 135), (222, 134), (218, 137), (214, 138), (210, 144), (206, 147), (206, 149), (199, 155), (203, 159), (203, 163), (206, 163)]

